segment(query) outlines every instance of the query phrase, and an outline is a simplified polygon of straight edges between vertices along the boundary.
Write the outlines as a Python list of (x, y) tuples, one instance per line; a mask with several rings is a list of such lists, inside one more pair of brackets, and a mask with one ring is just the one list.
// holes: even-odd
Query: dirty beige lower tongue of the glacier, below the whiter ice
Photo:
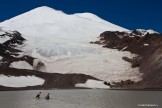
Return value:
[(47, 72), (50, 73), (83, 73), (108, 82), (128, 79), (141, 80), (142, 73), (138, 72), (139, 68), (131, 68), (131, 64), (122, 59), (125, 56), (132, 58), (136, 55), (115, 49), (97, 49), (100, 50), (100, 53), (60, 55), (58, 59), (56, 59), (57, 56), (51, 59), (43, 56), (40, 58), (46, 65)]

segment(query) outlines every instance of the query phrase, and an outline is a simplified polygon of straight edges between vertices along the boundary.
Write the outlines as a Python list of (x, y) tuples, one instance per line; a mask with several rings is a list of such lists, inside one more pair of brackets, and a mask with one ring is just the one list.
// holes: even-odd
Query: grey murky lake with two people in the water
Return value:
[[(40, 99), (35, 95), (42, 92)], [(50, 93), (50, 100), (44, 97)], [(162, 91), (100, 89), (1, 91), (0, 108), (162, 108)]]

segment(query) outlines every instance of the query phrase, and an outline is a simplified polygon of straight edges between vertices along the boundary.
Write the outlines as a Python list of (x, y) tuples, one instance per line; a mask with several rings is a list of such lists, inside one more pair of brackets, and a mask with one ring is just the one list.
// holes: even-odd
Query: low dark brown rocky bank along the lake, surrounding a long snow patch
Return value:
[(87, 79), (98, 80), (94, 77), (84, 74), (58, 74), (58, 73), (44, 73), (35, 70), (14, 69), (0, 67), (0, 74), (6, 76), (36, 76), (45, 80), (43, 85), (29, 86), (29, 87), (4, 87), (0, 86), (0, 91), (4, 90), (33, 90), (33, 89), (68, 89), (75, 88), (77, 83), (85, 83)]

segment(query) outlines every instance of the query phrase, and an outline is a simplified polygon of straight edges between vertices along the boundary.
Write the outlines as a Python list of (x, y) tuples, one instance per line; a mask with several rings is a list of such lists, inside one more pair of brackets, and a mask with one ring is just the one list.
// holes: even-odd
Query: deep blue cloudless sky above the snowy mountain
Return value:
[(39, 6), (69, 14), (90, 12), (127, 29), (162, 33), (162, 0), (1, 0), (0, 22)]

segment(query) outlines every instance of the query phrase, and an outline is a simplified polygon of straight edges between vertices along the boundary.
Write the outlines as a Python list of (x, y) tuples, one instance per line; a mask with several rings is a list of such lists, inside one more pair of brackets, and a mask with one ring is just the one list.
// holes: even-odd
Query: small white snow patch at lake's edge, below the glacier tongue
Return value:
[(103, 81), (97, 81), (88, 79), (84, 84), (79, 83), (75, 84), (75, 87), (84, 87), (84, 88), (100, 88), (100, 89), (108, 89), (109, 86), (105, 85)]

